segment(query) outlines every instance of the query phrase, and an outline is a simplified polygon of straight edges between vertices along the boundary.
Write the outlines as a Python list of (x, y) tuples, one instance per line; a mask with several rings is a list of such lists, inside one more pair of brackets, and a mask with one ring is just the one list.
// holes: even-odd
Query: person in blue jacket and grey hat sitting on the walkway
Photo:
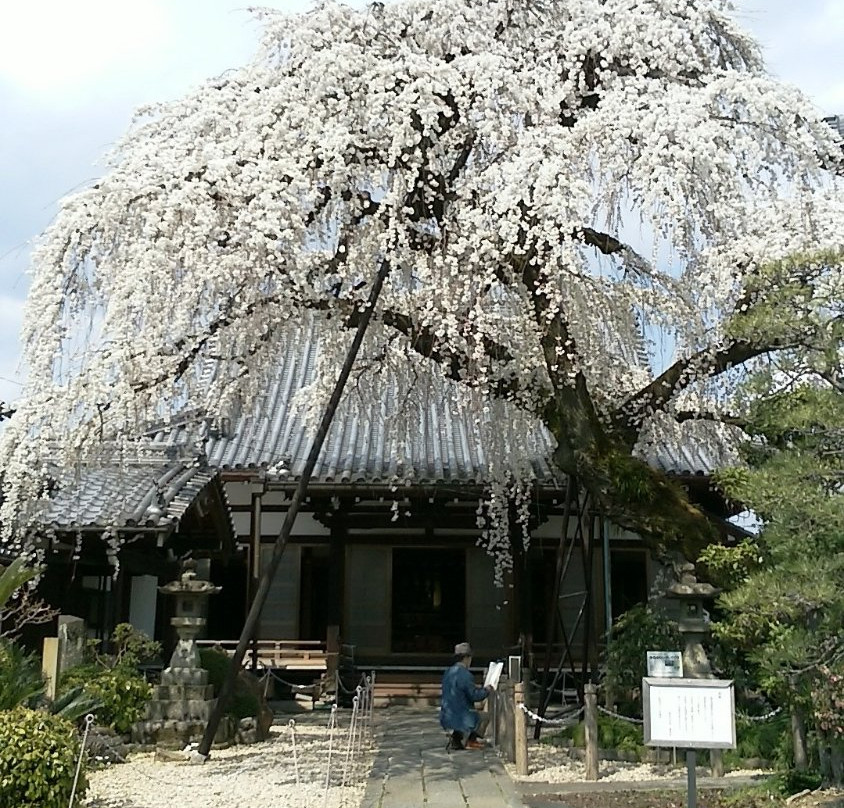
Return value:
[(440, 725), (451, 732), (449, 745), (453, 749), (480, 749), (489, 722), (474, 709), (475, 703), (483, 701), (492, 692), (492, 686), (475, 687), (475, 680), (469, 672), (472, 664), (472, 647), (467, 642), (454, 646), (454, 664), (443, 674), (442, 705)]

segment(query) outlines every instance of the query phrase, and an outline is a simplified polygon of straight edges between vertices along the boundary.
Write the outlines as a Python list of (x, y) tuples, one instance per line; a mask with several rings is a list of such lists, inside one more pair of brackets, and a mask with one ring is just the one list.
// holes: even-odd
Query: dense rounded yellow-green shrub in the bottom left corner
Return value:
[[(67, 808), (79, 758), (79, 736), (69, 721), (43, 710), (16, 707), (0, 715), (0, 805)], [(87, 788), (77, 785), (79, 805)]]

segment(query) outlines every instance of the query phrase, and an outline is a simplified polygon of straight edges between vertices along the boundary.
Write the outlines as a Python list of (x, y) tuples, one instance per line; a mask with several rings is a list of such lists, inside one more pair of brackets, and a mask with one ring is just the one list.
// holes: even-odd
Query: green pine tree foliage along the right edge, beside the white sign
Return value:
[[(820, 268), (828, 260), (821, 254), (811, 263)], [(767, 271), (782, 277), (794, 265)], [(754, 316), (758, 336), (800, 328), (804, 336), (744, 381), (747, 464), (725, 470), (719, 481), (758, 516), (761, 529), (736, 547), (704, 552), (726, 589), (719, 603), (725, 615), (714, 628), (769, 694), (814, 718), (821, 747), (835, 749), (831, 775), (840, 782), (844, 286), (825, 277), (807, 297), (801, 284), (786, 281)]]

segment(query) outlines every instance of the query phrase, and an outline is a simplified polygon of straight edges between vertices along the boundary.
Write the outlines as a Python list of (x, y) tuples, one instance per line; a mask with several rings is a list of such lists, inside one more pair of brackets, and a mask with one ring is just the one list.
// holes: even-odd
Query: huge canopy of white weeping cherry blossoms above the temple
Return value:
[[(640, 430), (709, 372), (691, 359), (722, 350), (754, 266), (844, 232), (836, 135), (724, 0), (259, 15), (255, 58), (141, 111), (44, 234), (0, 446), (6, 530), (48, 458), (248, 406), (306, 313), (326, 389), (379, 268), (368, 366), (461, 385), (500, 498), (531, 451), (502, 438), (502, 402), (524, 416), (511, 431), (538, 416), (574, 454), (549, 414), (572, 391)], [(637, 397), (653, 328), (688, 372)]]

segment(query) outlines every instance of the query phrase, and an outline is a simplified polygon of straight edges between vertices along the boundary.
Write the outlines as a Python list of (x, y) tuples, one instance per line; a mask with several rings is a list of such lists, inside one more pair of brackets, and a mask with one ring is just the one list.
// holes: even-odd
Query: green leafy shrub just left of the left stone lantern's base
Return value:
[(78, 665), (61, 678), (59, 695), (82, 687), (83, 693), (102, 705), (97, 711), (97, 723), (116, 732), (128, 732), (143, 718), (152, 687), (134, 669), (118, 665), (102, 668), (99, 665)]

